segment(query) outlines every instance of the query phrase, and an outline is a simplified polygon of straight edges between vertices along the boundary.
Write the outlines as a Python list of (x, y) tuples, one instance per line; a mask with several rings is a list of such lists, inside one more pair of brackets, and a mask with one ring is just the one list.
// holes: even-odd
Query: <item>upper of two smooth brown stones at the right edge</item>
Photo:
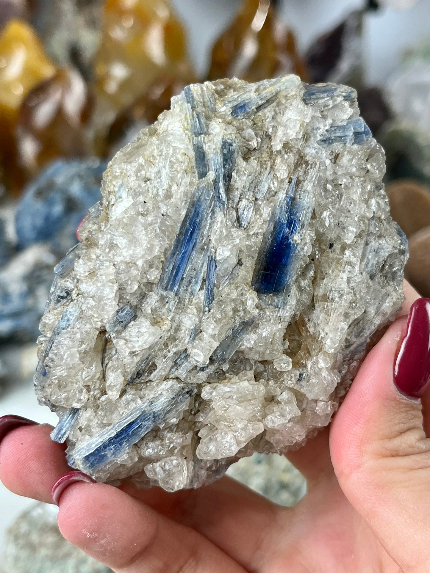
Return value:
[(430, 191), (412, 179), (398, 179), (386, 186), (391, 216), (406, 237), (430, 226)]

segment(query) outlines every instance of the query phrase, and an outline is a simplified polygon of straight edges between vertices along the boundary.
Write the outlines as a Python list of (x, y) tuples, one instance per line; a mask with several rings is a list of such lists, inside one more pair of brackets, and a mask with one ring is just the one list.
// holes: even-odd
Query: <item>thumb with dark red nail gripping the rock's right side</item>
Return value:
[(430, 571), (429, 376), (430, 300), (418, 299), (366, 357), (330, 432), (339, 485), (408, 573)]

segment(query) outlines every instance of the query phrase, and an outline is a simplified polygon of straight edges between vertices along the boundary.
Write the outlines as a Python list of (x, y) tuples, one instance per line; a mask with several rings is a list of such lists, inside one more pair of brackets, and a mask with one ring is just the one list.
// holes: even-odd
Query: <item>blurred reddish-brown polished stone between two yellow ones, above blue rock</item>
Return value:
[(89, 152), (85, 125), (91, 111), (87, 85), (73, 68), (62, 68), (24, 100), (15, 138), (19, 163), (29, 175), (57, 157)]

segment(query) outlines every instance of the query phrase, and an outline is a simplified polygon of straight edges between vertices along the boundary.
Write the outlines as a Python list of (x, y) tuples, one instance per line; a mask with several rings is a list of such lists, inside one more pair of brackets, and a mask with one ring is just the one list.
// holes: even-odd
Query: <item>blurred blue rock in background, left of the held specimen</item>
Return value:
[(60, 257), (76, 245), (76, 228), (89, 207), (100, 201), (97, 158), (57, 160), (26, 187), (15, 215), (18, 249), (47, 242)]

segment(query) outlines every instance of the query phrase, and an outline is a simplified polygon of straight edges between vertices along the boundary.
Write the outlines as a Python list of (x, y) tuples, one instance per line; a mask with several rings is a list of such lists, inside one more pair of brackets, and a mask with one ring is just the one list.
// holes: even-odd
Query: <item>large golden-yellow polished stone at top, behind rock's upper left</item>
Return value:
[(107, 0), (95, 58), (95, 125), (104, 135), (160, 75), (191, 75), (185, 33), (167, 0)]

